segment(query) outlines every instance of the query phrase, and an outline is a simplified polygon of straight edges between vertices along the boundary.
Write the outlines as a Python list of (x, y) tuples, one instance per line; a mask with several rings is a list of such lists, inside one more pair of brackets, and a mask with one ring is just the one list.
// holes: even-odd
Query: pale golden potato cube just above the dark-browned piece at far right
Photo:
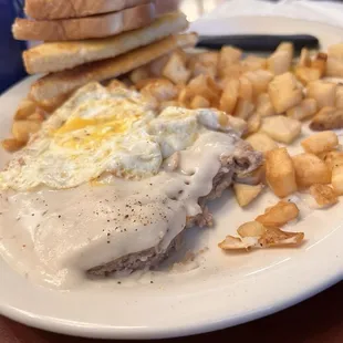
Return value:
[(316, 101), (318, 108), (334, 106), (336, 84), (328, 81), (314, 81), (308, 84), (306, 96)]

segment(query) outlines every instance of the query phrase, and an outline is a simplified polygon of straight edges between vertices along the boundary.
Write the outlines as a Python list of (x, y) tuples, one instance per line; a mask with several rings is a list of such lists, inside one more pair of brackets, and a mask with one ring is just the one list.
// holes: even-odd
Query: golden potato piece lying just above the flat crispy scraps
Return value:
[(266, 209), (264, 214), (254, 220), (266, 228), (281, 228), (291, 220), (297, 219), (299, 209), (294, 202), (279, 201), (277, 205)]

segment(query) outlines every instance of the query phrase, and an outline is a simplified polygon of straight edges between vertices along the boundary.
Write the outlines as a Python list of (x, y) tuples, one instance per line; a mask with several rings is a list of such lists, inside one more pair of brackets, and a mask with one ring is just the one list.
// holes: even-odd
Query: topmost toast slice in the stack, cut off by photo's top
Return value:
[(178, 0), (27, 0), (25, 13), (37, 20), (82, 18), (155, 2), (158, 12), (176, 11)]

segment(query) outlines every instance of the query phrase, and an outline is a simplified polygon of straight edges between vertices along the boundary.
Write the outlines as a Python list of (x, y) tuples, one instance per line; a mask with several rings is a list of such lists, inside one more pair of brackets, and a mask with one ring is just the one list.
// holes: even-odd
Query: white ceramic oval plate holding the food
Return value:
[[(343, 37), (342, 30), (329, 25), (282, 18), (242, 18), (208, 24), (214, 27), (222, 33), (313, 33), (323, 45)], [(32, 79), (23, 81), (0, 97), (1, 138), (9, 135), (13, 112), (30, 82)], [(7, 158), (1, 150), (1, 165)], [(122, 280), (121, 284), (107, 280), (61, 292), (30, 283), (0, 259), (0, 313), (65, 334), (157, 339), (222, 329), (288, 308), (342, 280), (342, 199), (341, 205), (329, 210), (311, 211), (299, 204), (302, 220), (291, 228), (305, 232), (306, 240), (299, 249), (228, 254), (218, 249), (217, 243), (226, 235), (233, 235), (240, 224), (276, 201), (266, 191), (253, 206), (242, 210), (228, 191), (212, 204), (216, 227), (189, 230), (186, 247), (174, 258), (181, 258), (187, 250), (208, 248), (195, 263), (187, 264), (188, 272), (159, 271)]]

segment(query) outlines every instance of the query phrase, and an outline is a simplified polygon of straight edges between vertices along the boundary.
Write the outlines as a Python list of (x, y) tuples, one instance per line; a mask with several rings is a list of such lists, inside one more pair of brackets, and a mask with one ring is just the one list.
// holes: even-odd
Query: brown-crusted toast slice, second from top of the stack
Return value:
[(12, 27), (18, 40), (72, 41), (104, 38), (150, 24), (157, 17), (155, 4), (147, 3), (121, 12), (87, 18), (42, 20), (18, 18)]

